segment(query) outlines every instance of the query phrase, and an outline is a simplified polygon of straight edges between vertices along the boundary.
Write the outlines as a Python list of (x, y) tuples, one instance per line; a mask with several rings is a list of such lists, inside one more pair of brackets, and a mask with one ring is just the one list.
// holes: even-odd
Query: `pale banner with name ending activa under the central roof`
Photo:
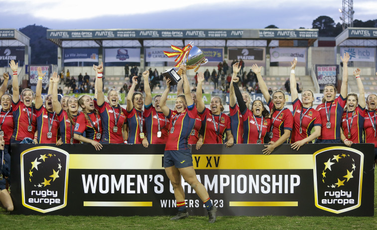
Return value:
[(306, 48), (271, 48), (269, 53), (270, 62), (306, 62)]

